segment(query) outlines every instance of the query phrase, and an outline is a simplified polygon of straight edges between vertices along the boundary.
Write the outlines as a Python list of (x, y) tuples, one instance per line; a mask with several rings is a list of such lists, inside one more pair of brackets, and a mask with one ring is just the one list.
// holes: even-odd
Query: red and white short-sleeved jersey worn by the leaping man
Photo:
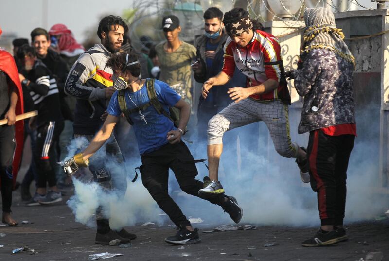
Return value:
[(224, 45), (224, 65), (222, 71), (232, 77), (235, 67), (247, 76), (246, 87), (256, 86), (268, 79), (279, 82), (277, 89), (250, 97), (256, 100), (280, 99), (290, 104), (290, 94), (283, 78), (281, 47), (271, 34), (256, 30), (245, 47), (239, 47), (230, 37)]

